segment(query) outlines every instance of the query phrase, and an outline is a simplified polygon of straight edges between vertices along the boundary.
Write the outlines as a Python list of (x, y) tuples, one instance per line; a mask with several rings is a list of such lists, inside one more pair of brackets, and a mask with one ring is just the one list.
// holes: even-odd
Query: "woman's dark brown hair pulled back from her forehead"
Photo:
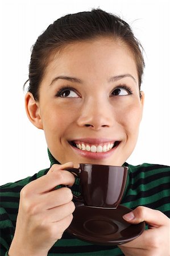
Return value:
[(35, 100), (39, 100), (39, 85), (52, 53), (59, 51), (69, 43), (95, 39), (101, 36), (118, 39), (130, 49), (138, 70), (140, 91), (144, 69), (141, 44), (135, 38), (131, 27), (124, 20), (101, 9), (92, 9), (92, 11), (68, 14), (57, 19), (39, 36), (34, 47), (32, 47), (29, 79), (27, 80), (30, 81), (28, 92), (33, 94)]

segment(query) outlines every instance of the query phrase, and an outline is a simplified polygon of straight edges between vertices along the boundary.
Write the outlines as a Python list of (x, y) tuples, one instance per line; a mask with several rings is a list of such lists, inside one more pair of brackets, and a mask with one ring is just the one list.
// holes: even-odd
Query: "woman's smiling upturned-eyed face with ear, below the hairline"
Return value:
[(131, 52), (109, 38), (69, 44), (53, 56), (39, 101), (26, 95), (31, 122), (44, 130), (60, 162), (122, 166), (134, 150), (142, 118)]

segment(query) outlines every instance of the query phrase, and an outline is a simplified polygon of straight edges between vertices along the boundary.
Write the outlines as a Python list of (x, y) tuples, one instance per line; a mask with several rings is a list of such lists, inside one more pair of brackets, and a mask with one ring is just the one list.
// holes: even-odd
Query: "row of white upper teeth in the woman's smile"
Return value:
[(107, 143), (107, 144), (103, 144), (103, 145), (92, 145), (90, 146), (89, 144), (84, 144), (84, 143), (78, 143), (76, 144), (76, 147), (79, 148), (80, 150), (86, 150), (86, 151), (90, 151), (90, 152), (106, 152), (111, 150), (111, 148), (113, 148), (114, 143)]

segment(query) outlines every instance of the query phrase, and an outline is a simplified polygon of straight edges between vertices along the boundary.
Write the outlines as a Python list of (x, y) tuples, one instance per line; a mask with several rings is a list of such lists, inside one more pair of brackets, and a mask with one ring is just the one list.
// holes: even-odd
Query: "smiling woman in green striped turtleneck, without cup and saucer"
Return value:
[[(144, 104), (141, 46), (126, 22), (102, 10), (64, 16), (32, 49), (26, 112), (43, 129), (51, 167), (1, 187), (1, 254), (169, 255), (169, 167), (125, 163)], [(126, 221), (146, 221), (135, 240), (99, 246), (71, 237), (79, 163), (129, 167)], [(58, 185), (68, 185), (59, 187)], [(72, 193), (73, 192), (73, 193)]]

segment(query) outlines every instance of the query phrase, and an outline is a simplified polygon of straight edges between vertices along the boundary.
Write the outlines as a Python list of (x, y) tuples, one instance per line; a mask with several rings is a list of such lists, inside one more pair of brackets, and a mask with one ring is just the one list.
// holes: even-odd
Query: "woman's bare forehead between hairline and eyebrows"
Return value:
[(74, 75), (86, 79), (131, 73), (138, 80), (134, 56), (120, 40), (98, 38), (67, 44), (51, 56), (44, 79)]

